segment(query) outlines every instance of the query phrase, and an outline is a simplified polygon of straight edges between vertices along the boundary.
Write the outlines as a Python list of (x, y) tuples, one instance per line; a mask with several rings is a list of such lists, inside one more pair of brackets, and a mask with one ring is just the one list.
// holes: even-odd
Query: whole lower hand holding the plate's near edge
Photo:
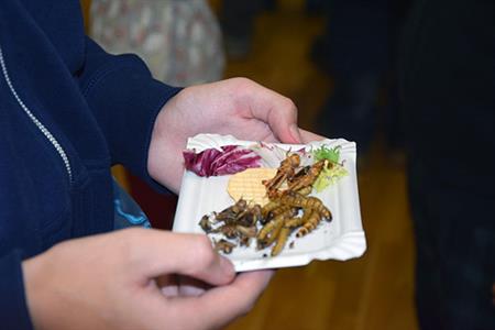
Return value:
[[(237, 276), (205, 235), (146, 229), (59, 243), (24, 261), (23, 273), (38, 330), (215, 329), (246, 314), (273, 275)], [(161, 288), (156, 278), (170, 274), (210, 288)]]

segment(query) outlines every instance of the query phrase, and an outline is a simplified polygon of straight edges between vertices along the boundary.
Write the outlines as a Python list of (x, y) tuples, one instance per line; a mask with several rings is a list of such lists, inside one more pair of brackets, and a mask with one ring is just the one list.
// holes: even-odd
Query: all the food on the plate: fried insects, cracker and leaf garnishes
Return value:
[(227, 191), (234, 204), (199, 221), (215, 249), (226, 254), (254, 241), (257, 250), (271, 248), (276, 256), (289, 238), (306, 237), (322, 220), (331, 221), (330, 209), (312, 191), (348, 175), (340, 146), (324, 144), (308, 151), (286, 151), (262, 142), (227, 145), (200, 153), (185, 151), (184, 158), (186, 168), (199, 176), (231, 175)]

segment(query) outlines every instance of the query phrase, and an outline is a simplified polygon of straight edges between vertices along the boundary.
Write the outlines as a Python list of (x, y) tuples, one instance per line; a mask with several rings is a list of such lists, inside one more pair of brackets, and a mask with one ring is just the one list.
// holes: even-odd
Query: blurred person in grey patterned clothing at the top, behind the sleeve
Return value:
[(109, 53), (135, 53), (175, 86), (219, 80), (220, 28), (204, 0), (92, 0), (91, 37)]

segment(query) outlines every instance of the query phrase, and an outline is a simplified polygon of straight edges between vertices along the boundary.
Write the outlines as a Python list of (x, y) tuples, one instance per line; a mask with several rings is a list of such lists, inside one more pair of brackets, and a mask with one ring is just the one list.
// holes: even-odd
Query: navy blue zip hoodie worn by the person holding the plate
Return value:
[(112, 229), (110, 166), (153, 184), (151, 131), (178, 89), (86, 37), (77, 0), (1, 0), (0, 64), (0, 327), (31, 329), (21, 262)]

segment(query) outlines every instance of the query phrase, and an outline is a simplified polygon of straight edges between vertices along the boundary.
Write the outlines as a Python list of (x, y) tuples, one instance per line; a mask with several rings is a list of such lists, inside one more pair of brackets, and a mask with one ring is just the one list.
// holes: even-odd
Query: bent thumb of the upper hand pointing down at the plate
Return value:
[(251, 88), (245, 90), (250, 94), (252, 116), (266, 122), (280, 142), (301, 143), (297, 129), (297, 108), (294, 102), (271, 89), (250, 82)]

